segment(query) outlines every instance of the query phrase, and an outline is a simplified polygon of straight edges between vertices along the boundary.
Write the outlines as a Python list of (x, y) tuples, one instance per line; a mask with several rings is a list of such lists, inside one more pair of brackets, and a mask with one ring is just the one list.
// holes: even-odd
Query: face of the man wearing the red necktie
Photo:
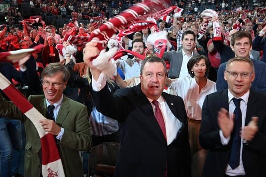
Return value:
[(161, 62), (145, 63), (140, 74), (142, 92), (150, 99), (157, 100), (165, 87), (166, 74)]

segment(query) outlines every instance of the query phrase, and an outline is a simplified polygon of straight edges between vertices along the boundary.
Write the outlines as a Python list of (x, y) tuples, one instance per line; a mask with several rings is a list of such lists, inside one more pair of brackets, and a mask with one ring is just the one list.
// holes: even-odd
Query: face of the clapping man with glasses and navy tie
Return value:
[[(250, 64), (244, 61), (231, 62), (227, 67), (227, 71), (237, 73), (253, 72)], [(228, 89), (231, 94), (234, 97), (239, 98), (243, 96), (246, 92), (248, 92), (251, 86), (251, 82), (255, 78), (255, 73), (253, 72), (248, 78), (243, 78), (240, 74), (238, 74), (236, 78), (233, 78), (227, 71), (225, 71), (224, 73), (224, 79), (227, 81)]]

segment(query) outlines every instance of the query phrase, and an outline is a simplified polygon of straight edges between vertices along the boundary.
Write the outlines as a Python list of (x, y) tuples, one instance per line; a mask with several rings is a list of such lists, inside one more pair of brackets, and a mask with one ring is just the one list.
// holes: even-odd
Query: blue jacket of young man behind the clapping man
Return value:
[[(250, 89), (257, 92), (266, 93), (266, 63), (255, 59), (251, 60), (254, 64), (255, 79), (252, 82)], [(226, 63), (223, 63), (219, 66), (216, 80), (217, 91), (228, 88), (227, 82), (224, 79), (225, 68)]]

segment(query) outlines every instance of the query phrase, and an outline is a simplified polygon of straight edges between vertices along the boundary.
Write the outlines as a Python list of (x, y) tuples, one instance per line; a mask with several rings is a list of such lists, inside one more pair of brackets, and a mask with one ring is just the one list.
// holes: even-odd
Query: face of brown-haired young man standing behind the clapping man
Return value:
[(252, 49), (252, 45), (249, 43), (249, 38), (244, 37), (242, 39), (235, 39), (234, 45), (231, 46), (236, 57), (249, 58), (249, 52)]

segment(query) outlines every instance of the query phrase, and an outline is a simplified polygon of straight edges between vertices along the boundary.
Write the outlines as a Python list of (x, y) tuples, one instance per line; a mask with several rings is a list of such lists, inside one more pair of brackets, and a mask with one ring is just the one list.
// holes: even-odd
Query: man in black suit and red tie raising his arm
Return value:
[[(87, 63), (93, 57), (92, 48), (88, 44), (85, 48)], [(156, 56), (144, 59), (141, 83), (118, 89), (114, 96), (106, 79), (98, 80), (100, 71), (90, 68), (97, 110), (121, 123), (121, 149), (115, 176), (189, 177), (191, 157), (185, 107), (180, 97), (162, 93), (166, 82), (165, 62)]]

